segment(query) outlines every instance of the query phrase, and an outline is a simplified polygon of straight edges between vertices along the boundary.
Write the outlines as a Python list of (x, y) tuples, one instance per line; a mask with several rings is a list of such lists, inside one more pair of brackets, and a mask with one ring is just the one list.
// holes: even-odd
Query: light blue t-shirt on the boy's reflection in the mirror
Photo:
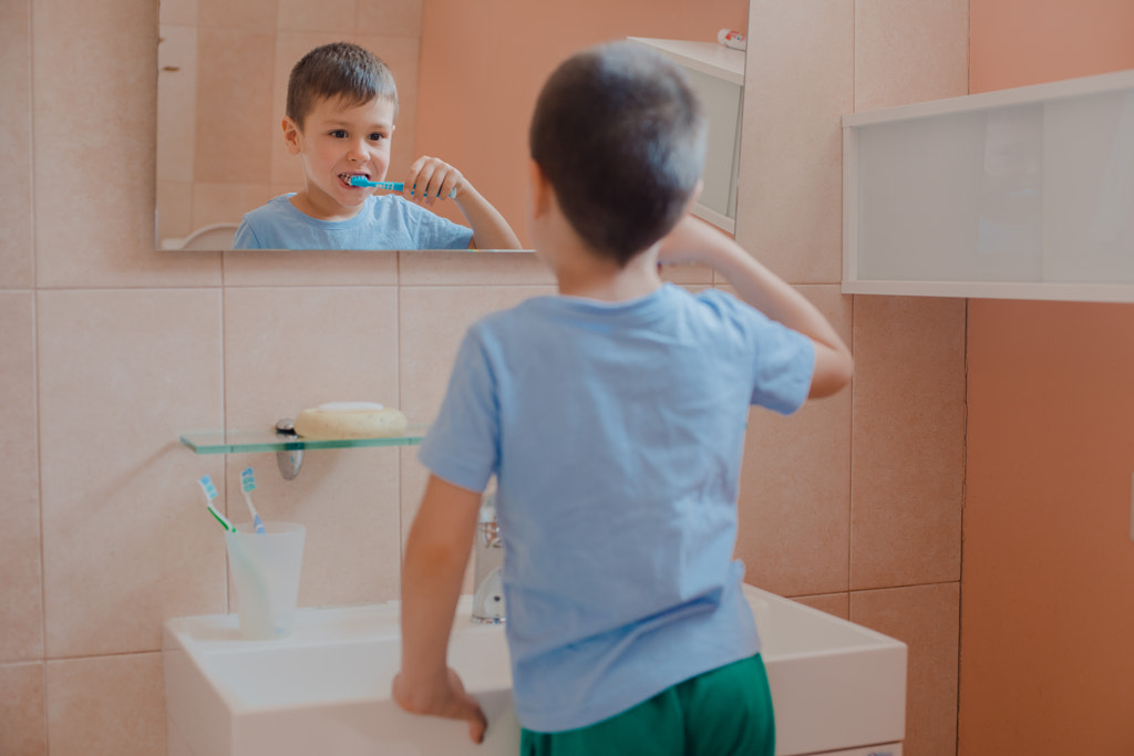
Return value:
[(393, 194), (371, 195), (354, 218), (323, 221), (291, 194), (245, 213), (234, 249), (464, 249), (473, 230)]

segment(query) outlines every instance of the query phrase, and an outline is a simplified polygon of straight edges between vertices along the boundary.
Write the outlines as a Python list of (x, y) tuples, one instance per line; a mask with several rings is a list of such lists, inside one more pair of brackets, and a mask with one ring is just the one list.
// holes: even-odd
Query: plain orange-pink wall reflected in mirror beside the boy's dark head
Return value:
[(526, 243), (527, 124), (548, 74), (608, 40), (716, 41), (746, 28), (747, 11), (746, 0), (425, 0), (417, 146), (452, 162)]

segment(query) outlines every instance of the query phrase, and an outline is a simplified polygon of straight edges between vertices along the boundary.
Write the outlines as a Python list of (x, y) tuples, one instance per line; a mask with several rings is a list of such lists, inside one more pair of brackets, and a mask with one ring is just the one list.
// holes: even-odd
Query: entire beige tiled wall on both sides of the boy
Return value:
[[(527, 255), (154, 253), (156, 7), (0, 0), (0, 18), (19, 179), (0, 184), (0, 754), (164, 754), (160, 622), (228, 608), (195, 479), (242, 519), (251, 464), (261, 510), (308, 526), (306, 605), (397, 594), (423, 487), (412, 450), (311, 452), (284, 483), (270, 456), (178, 435), (341, 398), (429, 416), (467, 323), (551, 280)], [(767, 104), (742, 240), (852, 339), (856, 376), (754, 418), (741, 552), (764, 587), (909, 643), (906, 753), (951, 753), (964, 303), (840, 295), (837, 126), (963, 93), (966, 2), (754, 0), (750, 29)]]

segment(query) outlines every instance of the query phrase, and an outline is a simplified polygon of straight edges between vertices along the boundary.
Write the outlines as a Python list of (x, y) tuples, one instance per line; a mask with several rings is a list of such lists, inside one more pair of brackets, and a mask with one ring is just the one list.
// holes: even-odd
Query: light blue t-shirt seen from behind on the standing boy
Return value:
[(807, 397), (811, 341), (719, 290), (550, 296), (468, 330), (420, 459), (497, 476), (516, 713), (556, 732), (760, 649), (733, 561), (750, 405)]

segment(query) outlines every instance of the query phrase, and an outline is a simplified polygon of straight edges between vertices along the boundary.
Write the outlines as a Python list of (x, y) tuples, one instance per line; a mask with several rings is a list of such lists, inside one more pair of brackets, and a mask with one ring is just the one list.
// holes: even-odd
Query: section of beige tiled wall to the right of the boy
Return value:
[(907, 756), (956, 753), (965, 301), (843, 296), (843, 113), (967, 93), (967, 0), (753, 0), (737, 238), (852, 343), (852, 391), (750, 423), (753, 583), (909, 645)]

